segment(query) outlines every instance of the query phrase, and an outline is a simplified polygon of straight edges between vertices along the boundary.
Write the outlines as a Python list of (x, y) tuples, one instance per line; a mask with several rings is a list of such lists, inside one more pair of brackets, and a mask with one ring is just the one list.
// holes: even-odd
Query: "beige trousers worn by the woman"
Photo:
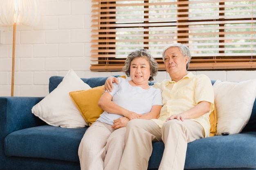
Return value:
[(80, 142), (78, 155), (81, 170), (118, 170), (124, 150), (126, 128), (94, 122)]

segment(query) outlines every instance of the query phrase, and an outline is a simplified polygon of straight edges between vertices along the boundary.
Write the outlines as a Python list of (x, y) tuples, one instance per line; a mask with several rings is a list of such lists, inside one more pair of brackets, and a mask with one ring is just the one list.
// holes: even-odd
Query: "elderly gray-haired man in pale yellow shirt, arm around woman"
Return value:
[[(163, 107), (158, 119), (134, 119), (126, 125), (126, 146), (119, 170), (147, 170), (152, 141), (164, 142), (159, 170), (183, 170), (187, 144), (209, 137), (209, 114), (214, 93), (210, 79), (188, 73), (191, 54), (183, 44), (171, 44), (162, 52), (171, 80), (155, 83), (162, 90)], [(112, 87), (113, 78), (106, 81)]]

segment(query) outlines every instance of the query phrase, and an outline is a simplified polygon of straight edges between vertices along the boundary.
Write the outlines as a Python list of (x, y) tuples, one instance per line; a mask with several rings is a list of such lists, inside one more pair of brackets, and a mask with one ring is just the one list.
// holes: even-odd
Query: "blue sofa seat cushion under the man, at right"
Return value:
[[(197, 139), (188, 144), (185, 169), (256, 167), (256, 132)], [(158, 168), (163, 142), (153, 142), (148, 168)], [(248, 157), (248, 155), (250, 155)]]

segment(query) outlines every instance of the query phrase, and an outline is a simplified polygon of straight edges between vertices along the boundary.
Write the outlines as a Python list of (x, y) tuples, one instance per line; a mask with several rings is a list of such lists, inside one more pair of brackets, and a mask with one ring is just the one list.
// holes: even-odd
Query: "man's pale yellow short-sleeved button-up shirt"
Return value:
[(214, 109), (214, 92), (209, 77), (204, 74), (193, 75), (190, 72), (178, 82), (164, 80), (155, 83), (153, 87), (162, 90), (164, 106), (160, 111), (159, 118), (153, 119), (160, 128), (168, 117), (189, 110), (201, 101), (210, 102), (211, 109), (209, 113), (191, 119), (201, 124), (205, 131), (205, 137), (209, 137), (209, 114)]

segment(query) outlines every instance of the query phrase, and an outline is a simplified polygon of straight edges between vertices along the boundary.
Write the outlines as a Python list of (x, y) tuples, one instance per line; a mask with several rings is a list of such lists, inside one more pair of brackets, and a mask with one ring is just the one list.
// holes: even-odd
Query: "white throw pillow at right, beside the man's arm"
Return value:
[(248, 123), (256, 97), (256, 79), (213, 84), (217, 111), (217, 135), (240, 133)]

